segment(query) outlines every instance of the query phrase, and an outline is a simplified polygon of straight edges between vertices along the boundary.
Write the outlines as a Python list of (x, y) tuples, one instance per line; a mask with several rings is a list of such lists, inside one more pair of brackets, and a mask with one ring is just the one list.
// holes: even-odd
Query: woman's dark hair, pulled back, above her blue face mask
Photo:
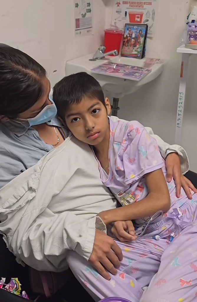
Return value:
[(0, 43), (0, 115), (14, 118), (43, 94), (46, 70), (21, 50)]

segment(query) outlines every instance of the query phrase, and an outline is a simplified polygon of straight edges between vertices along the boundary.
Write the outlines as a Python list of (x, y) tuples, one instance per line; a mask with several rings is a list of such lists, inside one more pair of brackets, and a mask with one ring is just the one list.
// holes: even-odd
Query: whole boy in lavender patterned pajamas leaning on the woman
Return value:
[[(92, 146), (102, 182), (123, 205), (98, 216), (105, 225), (115, 222), (112, 233), (120, 241), (130, 241), (128, 246), (120, 242), (126, 260), (121, 262), (118, 276), (110, 274), (111, 285), (71, 252), (67, 260), (73, 273), (77, 272), (76, 278), (92, 297), (95, 294), (103, 298), (103, 293), (105, 297), (114, 293), (128, 297), (127, 289), (132, 302), (159, 301), (164, 297), (166, 301), (191, 301), (196, 286), (196, 273), (191, 268), (195, 267), (196, 257), (194, 259), (188, 252), (195, 250), (196, 194), (191, 192), (190, 201), (182, 190), (181, 197), (177, 198), (173, 179), (167, 187), (163, 175), (166, 175), (165, 161), (156, 141), (136, 121), (108, 119), (109, 100), (104, 99), (99, 83), (92, 76), (81, 72), (65, 77), (55, 85), (53, 99), (61, 120), (73, 135)], [(166, 213), (152, 221), (143, 238), (136, 240), (131, 220), (137, 228), (144, 227), (157, 211)], [(182, 250), (186, 239), (189, 249)], [(168, 259), (165, 258), (166, 255), (171, 257), (171, 251), (178, 253), (171, 263), (176, 266), (173, 275), (170, 267), (166, 267)], [(152, 277), (154, 291), (148, 289), (140, 299), (141, 284), (148, 285)]]

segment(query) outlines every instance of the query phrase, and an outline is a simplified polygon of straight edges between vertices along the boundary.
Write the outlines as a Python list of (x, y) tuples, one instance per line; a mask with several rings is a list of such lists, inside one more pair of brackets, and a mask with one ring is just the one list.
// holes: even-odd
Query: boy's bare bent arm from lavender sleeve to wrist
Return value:
[(125, 207), (101, 212), (98, 216), (105, 224), (119, 220), (139, 219), (152, 216), (159, 210), (163, 212), (169, 210), (170, 194), (162, 170), (158, 169), (146, 174), (145, 179), (149, 191), (147, 197)]

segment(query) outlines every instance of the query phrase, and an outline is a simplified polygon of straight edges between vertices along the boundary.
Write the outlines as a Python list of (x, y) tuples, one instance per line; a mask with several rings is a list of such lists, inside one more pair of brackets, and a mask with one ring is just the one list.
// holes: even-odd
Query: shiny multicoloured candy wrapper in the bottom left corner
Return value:
[(22, 291), (21, 293), (21, 284), (18, 281), (18, 278), (11, 278), (8, 284), (5, 283), (5, 278), (1, 278), (0, 289), (4, 289), (5, 291), (8, 291), (12, 294), (18, 295), (29, 300), (25, 291)]

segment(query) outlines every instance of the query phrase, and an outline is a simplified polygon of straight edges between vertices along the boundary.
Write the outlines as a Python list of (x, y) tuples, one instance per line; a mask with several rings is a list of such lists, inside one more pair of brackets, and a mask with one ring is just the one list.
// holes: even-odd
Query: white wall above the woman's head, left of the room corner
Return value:
[(54, 85), (65, 76), (66, 60), (93, 53), (100, 45), (105, 27), (103, 1), (93, 0), (93, 10), (93, 35), (76, 38), (73, 0), (1, 0), (0, 41), (36, 59)]

